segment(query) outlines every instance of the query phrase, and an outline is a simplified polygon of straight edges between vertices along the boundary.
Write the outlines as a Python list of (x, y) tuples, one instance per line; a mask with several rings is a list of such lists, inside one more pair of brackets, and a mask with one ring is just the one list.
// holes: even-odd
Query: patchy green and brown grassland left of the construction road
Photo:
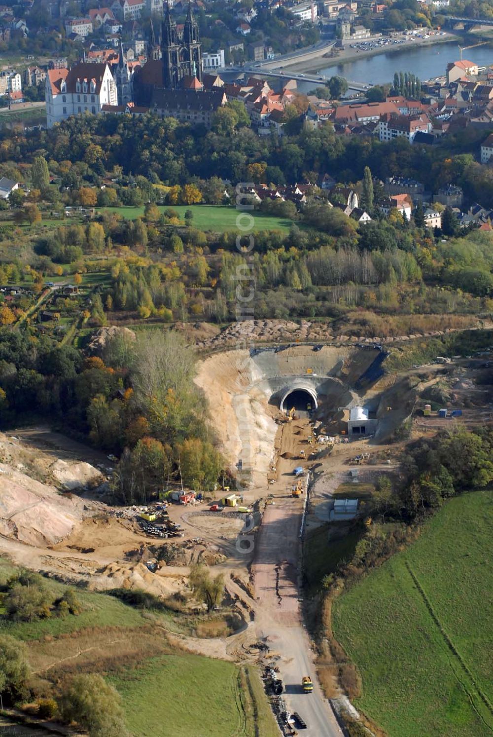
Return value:
[[(0, 558), (0, 587), (15, 570)], [(66, 590), (52, 579), (45, 585), (54, 597)], [(136, 609), (77, 588), (80, 615), (15, 622), (5, 615), (3, 596), (0, 634), (27, 643), (35, 674), (57, 682), (78, 671), (101, 673), (122, 695), (131, 736), (279, 734), (254, 666), (239, 668), (169, 643), (164, 632), (189, 634), (189, 617), (169, 609)]]

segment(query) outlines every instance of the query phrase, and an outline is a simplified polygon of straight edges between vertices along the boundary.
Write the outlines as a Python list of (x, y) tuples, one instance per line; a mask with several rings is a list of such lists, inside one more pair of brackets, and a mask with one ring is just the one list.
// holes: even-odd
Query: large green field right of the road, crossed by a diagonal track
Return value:
[(450, 500), (421, 537), (333, 611), (363, 679), (357, 708), (389, 737), (493, 731), (491, 492)]

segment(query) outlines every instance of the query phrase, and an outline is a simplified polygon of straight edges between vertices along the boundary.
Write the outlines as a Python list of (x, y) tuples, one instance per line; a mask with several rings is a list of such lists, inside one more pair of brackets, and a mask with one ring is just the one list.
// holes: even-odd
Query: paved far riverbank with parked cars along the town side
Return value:
[[(434, 46), (438, 43), (450, 43), (450, 41), (459, 41), (459, 36), (453, 33), (445, 32), (445, 35), (433, 35), (430, 38), (411, 38), (407, 36), (396, 35), (392, 37), (396, 41), (402, 41), (405, 39), (405, 43), (399, 43), (399, 45), (389, 46), (377, 46), (374, 49), (368, 49), (368, 51), (360, 51), (358, 49), (346, 48), (335, 52), (334, 56), (324, 56), (326, 51), (320, 49), (320, 55), (314, 56), (310, 60), (300, 60), (293, 57), (293, 59), (279, 60), (277, 67), (270, 66), (270, 71), (284, 71), (284, 69), (292, 69), (296, 66), (296, 71), (321, 71), (328, 69), (332, 66), (339, 66), (352, 61), (359, 61), (368, 57), (377, 56), (380, 54), (394, 54), (397, 52), (408, 51), (416, 49), (420, 46)], [(378, 37), (366, 38), (364, 41), (377, 41)], [(354, 41), (352, 43), (361, 43), (361, 41)], [(268, 74), (269, 69), (265, 69), (263, 66), (259, 67), (258, 73)], [(289, 75), (287, 75), (289, 76)], [(392, 80), (388, 80), (391, 82)]]

